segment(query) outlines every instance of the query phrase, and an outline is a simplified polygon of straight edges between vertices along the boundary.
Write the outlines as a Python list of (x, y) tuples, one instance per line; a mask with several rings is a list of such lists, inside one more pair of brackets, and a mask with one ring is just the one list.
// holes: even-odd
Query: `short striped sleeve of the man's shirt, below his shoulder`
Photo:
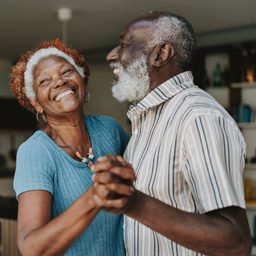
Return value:
[(223, 117), (197, 117), (186, 130), (182, 168), (199, 213), (245, 208), (246, 144), (237, 125)]

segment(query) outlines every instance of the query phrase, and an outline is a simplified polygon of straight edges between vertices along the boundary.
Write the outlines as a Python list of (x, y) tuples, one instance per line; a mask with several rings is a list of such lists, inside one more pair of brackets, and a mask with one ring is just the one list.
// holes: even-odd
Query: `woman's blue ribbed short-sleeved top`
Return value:
[[(123, 155), (129, 141), (121, 126), (105, 116), (84, 116), (95, 158)], [(51, 219), (66, 210), (92, 185), (92, 172), (61, 150), (45, 132), (37, 131), (18, 149), (14, 189), (16, 196), (30, 190), (52, 194)], [(28, 209), (29, 210), (29, 209)], [(125, 255), (123, 217), (101, 211), (65, 255)]]

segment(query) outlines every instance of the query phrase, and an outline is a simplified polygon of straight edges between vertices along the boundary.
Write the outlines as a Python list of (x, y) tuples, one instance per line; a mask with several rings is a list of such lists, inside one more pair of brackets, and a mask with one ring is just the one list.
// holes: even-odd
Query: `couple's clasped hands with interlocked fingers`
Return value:
[(97, 205), (112, 214), (125, 214), (133, 206), (136, 180), (132, 165), (121, 156), (99, 157), (91, 167), (94, 200)]

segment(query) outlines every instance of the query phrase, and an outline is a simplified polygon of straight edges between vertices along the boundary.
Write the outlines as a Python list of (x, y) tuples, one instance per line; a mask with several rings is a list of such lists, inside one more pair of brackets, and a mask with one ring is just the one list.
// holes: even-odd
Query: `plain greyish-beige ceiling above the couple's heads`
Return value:
[(256, 24), (255, 0), (0, 0), (0, 58), (19, 58), (42, 39), (61, 38), (56, 10), (74, 11), (68, 44), (79, 51), (118, 44), (124, 26), (150, 10), (184, 16), (196, 34)]

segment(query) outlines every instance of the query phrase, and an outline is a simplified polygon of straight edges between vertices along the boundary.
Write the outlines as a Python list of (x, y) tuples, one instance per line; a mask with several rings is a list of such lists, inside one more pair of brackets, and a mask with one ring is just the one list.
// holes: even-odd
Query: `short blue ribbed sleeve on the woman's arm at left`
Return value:
[(30, 138), (17, 152), (13, 187), (16, 197), (30, 190), (46, 190), (53, 195), (53, 161), (47, 147)]

